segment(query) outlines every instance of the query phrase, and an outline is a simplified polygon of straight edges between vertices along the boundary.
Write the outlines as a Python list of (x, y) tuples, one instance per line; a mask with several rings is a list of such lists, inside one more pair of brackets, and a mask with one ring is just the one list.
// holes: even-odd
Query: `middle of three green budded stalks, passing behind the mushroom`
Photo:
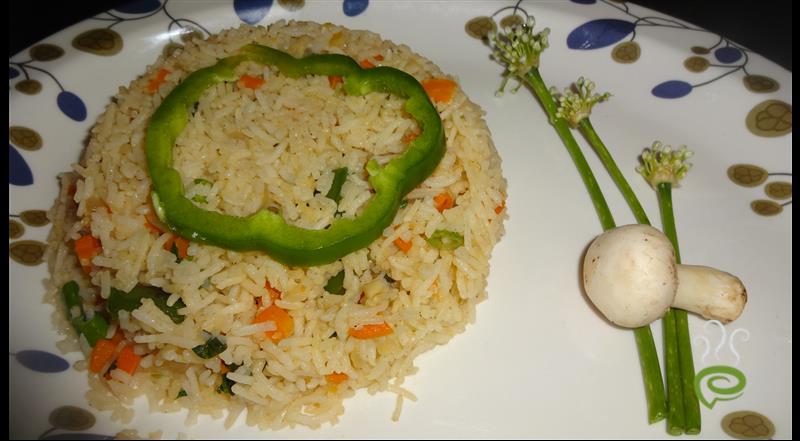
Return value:
[[(578, 78), (573, 87), (564, 90), (563, 94), (559, 94), (555, 88), (551, 88), (551, 94), (557, 97), (559, 102), (556, 115), (567, 121), (572, 128), (578, 129), (592, 146), (628, 203), (636, 222), (650, 225), (650, 219), (647, 218), (639, 198), (636, 197), (627, 179), (625, 179), (625, 175), (622, 174), (605, 143), (600, 139), (592, 125), (590, 119), (592, 108), (595, 104), (603, 102), (611, 96), (609, 93), (595, 93), (594, 89), (595, 84), (583, 77)], [(678, 314), (677, 310), (670, 308), (661, 321), (664, 331), (664, 370), (667, 380), (667, 432), (672, 435), (680, 435), (686, 429), (686, 398), (684, 393), (687, 391), (684, 390), (679, 355), (679, 345), (681, 343), (678, 341)], [(682, 314), (685, 316), (685, 312)], [(687, 336), (686, 344), (689, 344), (691, 349), (691, 343), (688, 340), (688, 325), (684, 333)], [(697, 401), (693, 395), (688, 398), (690, 400), (693, 399), (695, 402)]]

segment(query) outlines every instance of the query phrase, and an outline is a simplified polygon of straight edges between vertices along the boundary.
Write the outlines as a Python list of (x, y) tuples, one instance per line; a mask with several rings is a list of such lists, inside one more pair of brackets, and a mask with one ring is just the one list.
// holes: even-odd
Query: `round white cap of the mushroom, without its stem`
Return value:
[(648, 225), (625, 225), (598, 236), (583, 260), (583, 286), (614, 324), (638, 328), (669, 309), (678, 288), (675, 250)]

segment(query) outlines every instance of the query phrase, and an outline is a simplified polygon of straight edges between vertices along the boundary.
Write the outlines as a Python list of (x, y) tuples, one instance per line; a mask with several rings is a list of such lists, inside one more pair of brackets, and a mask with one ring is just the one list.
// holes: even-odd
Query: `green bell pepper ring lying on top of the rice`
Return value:
[[(175, 140), (189, 122), (203, 91), (221, 81), (236, 81), (236, 66), (244, 61), (274, 66), (290, 78), (338, 75), (344, 79), (343, 90), (348, 95), (384, 92), (406, 100), (404, 109), (416, 119), (421, 132), (403, 155), (385, 166), (374, 160), (367, 164), (375, 195), (359, 217), (337, 219), (324, 230), (309, 230), (289, 225), (279, 214), (268, 210), (247, 217), (229, 216), (197, 207), (184, 196), (181, 176), (172, 165)], [(261, 250), (291, 266), (330, 263), (379, 238), (397, 214), (403, 197), (433, 173), (444, 152), (442, 120), (425, 89), (411, 75), (387, 66), (362, 69), (344, 55), (298, 59), (256, 44), (246, 45), (239, 55), (223, 58), (186, 77), (156, 109), (145, 141), (153, 206), (172, 231), (231, 250)]]

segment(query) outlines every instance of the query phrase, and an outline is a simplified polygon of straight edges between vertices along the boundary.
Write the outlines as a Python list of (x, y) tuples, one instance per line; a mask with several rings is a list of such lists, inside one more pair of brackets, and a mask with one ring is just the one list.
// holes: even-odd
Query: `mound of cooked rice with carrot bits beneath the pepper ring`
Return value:
[[(120, 313), (108, 336), (121, 328), (142, 356), (140, 367), (133, 375), (120, 369), (90, 373), (86, 395), (92, 406), (112, 411), (112, 418), (129, 422), (133, 400), (145, 396), (153, 411), (188, 408), (188, 423), (207, 414), (227, 416), (228, 427), (246, 410), (247, 424), (262, 429), (319, 427), (335, 423), (343, 400), (366, 388), (397, 394), (396, 419), (403, 399), (414, 399), (401, 387), (415, 371), (414, 359), (462, 332), (475, 318), (475, 305), (486, 298), (490, 253), (503, 232), (506, 184), (482, 111), (460, 89), (449, 102), (437, 104), (447, 153), (368, 248), (329, 265), (289, 268), (262, 252), (191, 243), (188, 258), (177, 262), (164, 249), (172, 235), (154, 233), (146, 221), (151, 211), (143, 142), (148, 118), (182, 78), (251, 42), (294, 56), (342, 53), (399, 68), (420, 81), (446, 77), (408, 47), (377, 34), (311, 22), (242, 26), (190, 40), (159, 58), (120, 89), (92, 129), (74, 172), (60, 177), (48, 251), (48, 300), (56, 306), (53, 319), (64, 335), (59, 347), (87, 356), (91, 351), (66, 320), (59, 294), (64, 283), (78, 281), (89, 314), (92, 306), (103, 309), (112, 287), (129, 291), (137, 284), (153, 285), (171, 294), (169, 304), (185, 303), (180, 312), (186, 319), (173, 323), (150, 300)], [(162, 69), (169, 73), (159, 86), (153, 80)], [(239, 69), (242, 75), (263, 77), (264, 84), (255, 90), (233, 82), (210, 88), (178, 139), (175, 164), (187, 196), (198, 196), (206, 209), (233, 215), (280, 210), (288, 222), (306, 228), (324, 228), (334, 216), (357, 216), (371, 196), (366, 162), (384, 163), (402, 153), (417, 130), (402, 101), (378, 93), (348, 97), (327, 77), (288, 79), (256, 64)], [(148, 90), (153, 84), (157, 91)], [(340, 167), (350, 174), (337, 207), (325, 194)], [(440, 213), (434, 197), (443, 192), (453, 195), (455, 206)], [(452, 251), (431, 247), (425, 238), (437, 229), (463, 234), (464, 245)], [(88, 275), (73, 251), (74, 241), (85, 234), (102, 244)], [(398, 238), (410, 243), (410, 250), (400, 250)], [(342, 270), (344, 294), (326, 292), (328, 279)], [(273, 329), (272, 322), (252, 325), (257, 312), (272, 302), (266, 282), (282, 293), (274, 302), (294, 322), (292, 335), (278, 344), (264, 334)], [(365, 340), (348, 335), (353, 327), (384, 322), (393, 330), (390, 335)], [(220, 336), (227, 349), (204, 360), (191, 348), (209, 334)], [(242, 365), (227, 373), (234, 382), (232, 394), (217, 391), (220, 360)], [(334, 373), (346, 374), (346, 380), (326, 379)], [(181, 391), (185, 396), (178, 397)]]

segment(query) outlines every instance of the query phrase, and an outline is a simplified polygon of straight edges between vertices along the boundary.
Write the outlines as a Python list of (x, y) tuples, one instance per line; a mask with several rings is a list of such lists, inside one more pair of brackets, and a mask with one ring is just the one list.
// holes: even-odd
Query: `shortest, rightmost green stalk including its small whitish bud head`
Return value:
[[(686, 162), (692, 152), (681, 146), (673, 150), (656, 141), (650, 149), (642, 153), (642, 165), (636, 171), (641, 173), (658, 194), (658, 205), (661, 209), (661, 221), (664, 234), (675, 248), (675, 260), (681, 263), (678, 248), (678, 233), (675, 229), (675, 214), (672, 210), (672, 189), (678, 187), (680, 180), (692, 167)], [(689, 319), (686, 311), (672, 310), (675, 321), (675, 332), (678, 340), (678, 356), (680, 358), (681, 384), (683, 390), (684, 430), (687, 434), (700, 433), (700, 404), (694, 388), (694, 360), (692, 358), (692, 341), (689, 336)]]

